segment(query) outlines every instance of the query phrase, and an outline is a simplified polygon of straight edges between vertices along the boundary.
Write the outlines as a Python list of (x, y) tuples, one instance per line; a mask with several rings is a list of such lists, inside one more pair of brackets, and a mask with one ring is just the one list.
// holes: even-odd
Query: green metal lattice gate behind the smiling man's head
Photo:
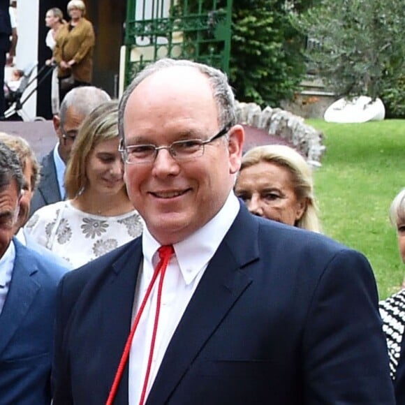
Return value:
[(126, 86), (162, 57), (199, 61), (228, 72), (232, 0), (127, 0)]

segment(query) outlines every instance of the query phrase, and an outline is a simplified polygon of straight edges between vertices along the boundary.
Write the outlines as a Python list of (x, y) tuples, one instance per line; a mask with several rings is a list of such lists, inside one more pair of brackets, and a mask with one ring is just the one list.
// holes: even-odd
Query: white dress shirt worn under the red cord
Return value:
[[(147, 395), (156, 378), (170, 339), (179, 324), (184, 311), (196, 290), (209, 260), (221, 244), (237, 213), (239, 202), (233, 191), (230, 192), (225, 204), (211, 221), (182, 242), (175, 244), (175, 255), (170, 259), (163, 282), (159, 327), (152, 358), (152, 367), (147, 384)], [(133, 319), (138, 312), (145, 292), (159, 262), (157, 250), (160, 244), (145, 228), (142, 234), (142, 253), (144, 256), (138, 277)], [(133, 337), (129, 355), (128, 404), (138, 405), (149, 358), (150, 344), (156, 312), (157, 290), (159, 277), (140, 318), (138, 328)], [(147, 397), (146, 395), (146, 397)]]

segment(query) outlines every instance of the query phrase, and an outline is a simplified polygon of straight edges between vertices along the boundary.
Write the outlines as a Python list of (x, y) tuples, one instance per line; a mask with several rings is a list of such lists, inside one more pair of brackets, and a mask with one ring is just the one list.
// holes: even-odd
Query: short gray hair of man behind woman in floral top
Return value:
[(75, 87), (64, 96), (64, 99), (61, 103), (61, 108), (59, 110), (59, 119), (61, 121), (62, 128), (66, 122), (66, 112), (68, 108), (75, 108), (75, 112), (79, 115), (90, 114), (94, 108), (98, 105), (110, 101), (111, 97), (108, 93), (98, 87), (94, 86), (81, 86)]

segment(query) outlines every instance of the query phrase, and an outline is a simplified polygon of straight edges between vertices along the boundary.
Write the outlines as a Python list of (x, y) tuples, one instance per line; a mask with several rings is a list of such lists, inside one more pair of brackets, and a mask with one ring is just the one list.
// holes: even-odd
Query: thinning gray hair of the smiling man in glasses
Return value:
[[(146, 66), (140, 71), (131, 84), (126, 88), (124, 94), (119, 102), (119, 114), (118, 114), (118, 128), (119, 136), (124, 139), (124, 111), (128, 98), (131, 96), (133, 90), (149, 76), (156, 72), (163, 71), (165, 68), (172, 68), (175, 66), (186, 66), (197, 69), (202, 75), (205, 75), (212, 87), (212, 96), (216, 102), (216, 108), (218, 110), (218, 124), (219, 126), (231, 126), (236, 124), (236, 112), (235, 112), (235, 96), (228, 84), (228, 78), (225, 73), (219, 71), (219, 69), (207, 66), (205, 64), (199, 64), (197, 62), (188, 61), (184, 59), (159, 59)], [(201, 114), (204, 114), (201, 111)]]

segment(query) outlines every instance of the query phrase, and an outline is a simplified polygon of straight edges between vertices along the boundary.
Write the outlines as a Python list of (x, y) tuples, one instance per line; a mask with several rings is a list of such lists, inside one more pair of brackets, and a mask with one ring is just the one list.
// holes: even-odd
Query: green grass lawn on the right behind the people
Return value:
[(325, 133), (327, 150), (315, 172), (324, 232), (367, 256), (381, 299), (388, 297), (405, 270), (388, 220), (392, 199), (405, 187), (405, 120), (307, 123)]

